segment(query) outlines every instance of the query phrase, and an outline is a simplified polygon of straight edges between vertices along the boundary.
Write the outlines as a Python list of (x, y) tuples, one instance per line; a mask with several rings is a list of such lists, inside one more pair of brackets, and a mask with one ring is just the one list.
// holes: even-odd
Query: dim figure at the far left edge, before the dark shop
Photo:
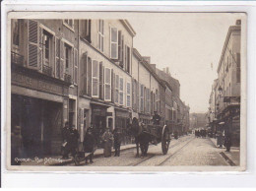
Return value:
[(15, 126), (11, 134), (11, 165), (21, 165), (21, 161), (16, 159), (22, 158), (23, 137), (21, 135), (21, 127)]

